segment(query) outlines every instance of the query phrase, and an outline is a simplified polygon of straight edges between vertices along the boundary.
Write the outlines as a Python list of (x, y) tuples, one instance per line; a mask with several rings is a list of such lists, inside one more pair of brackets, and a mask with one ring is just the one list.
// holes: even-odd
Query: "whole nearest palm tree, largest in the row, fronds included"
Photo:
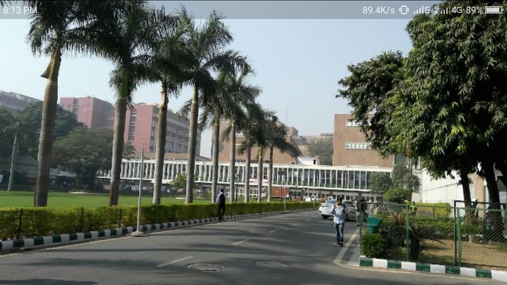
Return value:
[[(1, 3), (4, 5), (8, 1)], [(32, 17), (27, 41), (34, 54), (50, 55), (50, 62), (41, 77), (47, 79), (39, 153), (37, 154), (37, 181), (34, 206), (48, 204), (50, 164), (54, 136), (54, 118), (58, 100), (58, 75), (63, 52), (81, 52), (79, 44), (83, 27), (90, 21), (89, 1), (24, 1), (25, 5), (37, 8)], [(100, 6), (100, 7), (99, 7)], [(105, 5), (96, 6), (96, 11)]]

